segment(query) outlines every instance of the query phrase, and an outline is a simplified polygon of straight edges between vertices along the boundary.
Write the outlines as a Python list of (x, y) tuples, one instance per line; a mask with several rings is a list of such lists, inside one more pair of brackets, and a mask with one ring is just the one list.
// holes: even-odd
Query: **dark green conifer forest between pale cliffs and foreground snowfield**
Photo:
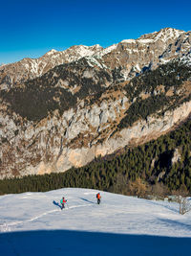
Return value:
[[(172, 161), (175, 152), (179, 157)], [(97, 157), (61, 174), (0, 180), (0, 194), (45, 192), (64, 187), (92, 188), (144, 197), (183, 188), (191, 195), (191, 120), (157, 140), (113, 155)]]

